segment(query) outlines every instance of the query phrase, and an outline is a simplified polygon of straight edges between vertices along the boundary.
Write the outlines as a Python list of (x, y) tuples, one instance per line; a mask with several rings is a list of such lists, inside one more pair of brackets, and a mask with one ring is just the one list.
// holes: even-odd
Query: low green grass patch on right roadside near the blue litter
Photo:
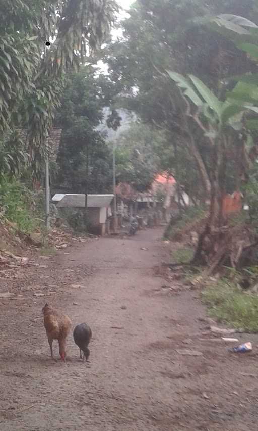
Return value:
[(209, 315), (219, 322), (247, 332), (258, 332), (258, 296), (243, 292), (225, 279), (206, 289), (202, 299)]

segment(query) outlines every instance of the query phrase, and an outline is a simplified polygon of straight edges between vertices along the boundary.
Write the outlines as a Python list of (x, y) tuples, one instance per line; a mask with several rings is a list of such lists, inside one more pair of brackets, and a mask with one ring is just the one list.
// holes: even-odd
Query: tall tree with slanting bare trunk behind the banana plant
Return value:
[[(171, 88), (165, 70), (194, 74), (219, 97), (226, 90), (221, 82), (236, 70), (255, 71), (255, 63), (228, 37), (207, 28), (207, 15), (230, 12), (255, 19), (256, 3), (248, 0), (243, 8), (242, 2), (230, 0), (138, 0), (122, 23), (124, 39), (110, 45), (106, 54), (109, 72), (117, 82), (119, 104), (166, 131), (171, 153), (178, 156), (173, 168), (176, 164), (180, 182), (187, 183), (191, 177), (204, 198), (211, 192), (208, 138), (194, 118), (187, 118), (180, 92)], [(191, 170), (184, 168), (185, 151)], [(228, 182), (232, 187), (231, 175)]]

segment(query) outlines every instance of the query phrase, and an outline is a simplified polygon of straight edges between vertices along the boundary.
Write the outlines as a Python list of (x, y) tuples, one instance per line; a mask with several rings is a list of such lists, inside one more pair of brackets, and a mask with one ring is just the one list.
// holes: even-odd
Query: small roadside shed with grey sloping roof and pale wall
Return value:
[[(87, 195), (87, 212), (92, 233), (104, 235), (110, 205), (114, 195)], [(54, 196), (57, 208), (85, 208), (85, 195), (66, 194)], [(53, 200), (52, 198), (52, 200)]]

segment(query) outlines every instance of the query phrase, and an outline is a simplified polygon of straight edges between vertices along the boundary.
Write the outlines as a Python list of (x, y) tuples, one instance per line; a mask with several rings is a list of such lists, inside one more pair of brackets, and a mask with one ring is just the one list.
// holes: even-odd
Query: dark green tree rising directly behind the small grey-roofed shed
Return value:
[(103, 108), (111, 103), (112, 83), (88, 65), (69, 76), (55, 126), (62, 128), (55, 190), (106, 193), (112, 183), (112, 159), (99, 130)]

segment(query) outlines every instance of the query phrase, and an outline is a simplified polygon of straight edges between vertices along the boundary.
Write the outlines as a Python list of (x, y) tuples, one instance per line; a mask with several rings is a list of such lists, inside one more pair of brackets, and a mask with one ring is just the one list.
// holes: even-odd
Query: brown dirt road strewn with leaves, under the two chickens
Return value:
[[(257, 429), (257, 349), (228, 353), (202, 334), (197, 291), (162, 288), (153, 273), (167, 257), (161, 235), (92, 240), (37, 259), (8, 285), (16, 299), (0, 304), (1, 431)], [(51, 360), (40, 315), (46, 301), (74, 325), (90, 324), (90, 364), (78, 361), (72, 334), (67, 366)]]

